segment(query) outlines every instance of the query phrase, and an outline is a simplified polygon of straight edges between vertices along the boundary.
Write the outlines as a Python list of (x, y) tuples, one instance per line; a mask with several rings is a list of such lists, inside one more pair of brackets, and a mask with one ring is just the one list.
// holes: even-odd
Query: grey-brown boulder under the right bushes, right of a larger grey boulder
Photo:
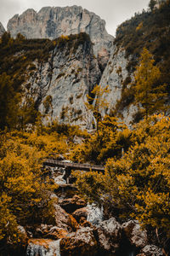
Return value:
[(138, 221), (130, 220), (122, 224), (122, 230), (134, 247), (142, 248), (147, 245), (147, 232), (142, 230)]

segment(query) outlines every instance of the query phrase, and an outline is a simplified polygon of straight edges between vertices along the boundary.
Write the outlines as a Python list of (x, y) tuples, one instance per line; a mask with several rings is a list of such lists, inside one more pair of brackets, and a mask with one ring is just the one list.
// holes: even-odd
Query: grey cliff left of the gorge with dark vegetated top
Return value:
[[(90, 127), (86, 95), (99, 84), (101, 72), (93, 44), (86, 33), (49, 39), (10, 38), (0, 44), (0, 74), (12, 80), (15, 91), (22, 91), (22, 104), (33, 100), (47, 122)], [(32, 114), (31, 114), (32, 115)]]

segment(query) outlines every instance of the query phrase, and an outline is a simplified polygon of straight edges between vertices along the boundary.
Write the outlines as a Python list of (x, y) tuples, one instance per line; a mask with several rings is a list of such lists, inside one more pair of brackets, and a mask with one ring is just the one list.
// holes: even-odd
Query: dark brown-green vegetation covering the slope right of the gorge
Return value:
[[(127, 70), (129, 77), (123, 81), (122, 99), (117, 103), (116, 111), (134, 102), (133, 89), (129, 89), (131, 74), (139, 63), (139, 55), (144, 48), (150, 51), (155, 59), (155, 65), (160, 69), (160, 84), (167, 84), (170, 93), (170, 2), (167, 0), (158, 9), (143, 10), (118, 26), (115, 44), (126, 49), (129, 57)], [(127, 86), (128, 85), (128, 86)]]

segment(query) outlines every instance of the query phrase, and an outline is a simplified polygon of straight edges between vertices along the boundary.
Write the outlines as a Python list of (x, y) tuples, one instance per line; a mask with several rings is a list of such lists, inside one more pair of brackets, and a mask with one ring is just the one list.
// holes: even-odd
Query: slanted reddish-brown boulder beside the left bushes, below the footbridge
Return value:
[(68, 232), (76, 231), (78, 228), (77, 220), (71, 214), (65, 212), (59, 205), (54, 205), (54, 207), (56, 226)]

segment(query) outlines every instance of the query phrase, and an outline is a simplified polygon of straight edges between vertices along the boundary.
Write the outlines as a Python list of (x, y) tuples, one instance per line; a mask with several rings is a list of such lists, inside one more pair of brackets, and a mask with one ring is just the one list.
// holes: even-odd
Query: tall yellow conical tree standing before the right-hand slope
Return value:
[(164, 108), (167, 97), (166, 85), (158, 84), (161, 72), (154, 62), (153, 56), (144, 48), (134, 76), (135, 101), (142, 104), (146, 119), (149, 114)]

